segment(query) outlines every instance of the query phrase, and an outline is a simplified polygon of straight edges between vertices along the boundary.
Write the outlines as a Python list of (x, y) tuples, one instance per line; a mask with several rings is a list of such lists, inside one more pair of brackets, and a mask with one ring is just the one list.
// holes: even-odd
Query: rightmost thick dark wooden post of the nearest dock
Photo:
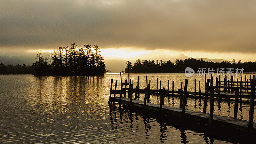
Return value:
[(255, 79), (251, 80), (251, 96), (250, 96), (250, 110), (249, 110), (249, 123), (248, 123), (249, 128), (252, 128), (253, 126), (254, 97), (255, 97)]

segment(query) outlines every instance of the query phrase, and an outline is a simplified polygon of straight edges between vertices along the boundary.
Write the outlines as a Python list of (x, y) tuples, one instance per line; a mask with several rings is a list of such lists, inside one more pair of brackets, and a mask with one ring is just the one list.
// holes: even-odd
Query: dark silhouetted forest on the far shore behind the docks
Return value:
[[(197, 72), (198, 68), (208, 68), (216, 70), (217, 68), (244, 68), (244, 72), (255, 72), (256, 71), (256, 62), (247, 61), (242, 63), (239, 60), (237, 63), (235, 59), (232, 62), (222, 61), (222, 62), (212, 62), (212, 61), (204, 61), (203, 59), (194, 59), (187, 58), (185, 60), (175, 60), (175, 62), (171, 62), (171, 60), (163, 61), (163, 60), (136, 60), (134, 65), (130, 61), (126, 62), (125, 73), (180, 73), (184, 72), (186, 67), (190, 67)], [(129, 69), (128, 69), (129, 68)]]

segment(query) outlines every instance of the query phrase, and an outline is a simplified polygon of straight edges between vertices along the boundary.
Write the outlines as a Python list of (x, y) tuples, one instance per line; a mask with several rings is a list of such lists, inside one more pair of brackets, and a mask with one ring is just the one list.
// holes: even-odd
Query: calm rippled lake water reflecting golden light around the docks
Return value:
[[(134, 84), (140, 76), (140, 88), (146, 87), (146, 74), (131, 74)], [(204, 77), (184, 74), (147, 74), (151, 89), (156, 79), (167, 88), (168, 80), (174, 89), (188, 79), (188, 91), (194, 91), (194, 79)], [(246, 74), (249, 78), (249, 74)], [(210, 76), (209, 76), (210, 77)], [(240, 80), (240, 76), (239, 80)], [(128, 78), (122, 75), (123, 80)], [(222, 77), (224, 79), (224, 77)], [(12, 143), (217, 143), (234, 142), (235, 137), (219, 136), (207, 130), (184, 125), (172, 118), (143, 114), (128, 108), (108, 105), (111, 79), (120, 74), (105, 76), (34, 77), (31, 75), (0, 75), (0, 142)], [(236, 79), (236, 77), (235, 77)], [(184, 86), (184, 84), (183, 84)], [(197, 87), (198, 91), (198, 87)], [(119, 95), (117, 95), (118, 97)], [(140, 100), (144, 100), (144, 94)], [(248, 120), (249, 104), (238, 104), (238, 118)], [(159, 103), (155, 95), (150, 102)], [(203, 111), (204, 100), (188, 99), (187, 109)], [(178, 97), (168, 97), (164, 105), (179, 107)], [(214, 101), (214, 114), (233, 116), (234, 100)], [(207, 113), (209, 113), (209, 102)], [(254, 115), (255, 116), (255, 115)], [(256, 120), (254, 119), (254, 122)]]

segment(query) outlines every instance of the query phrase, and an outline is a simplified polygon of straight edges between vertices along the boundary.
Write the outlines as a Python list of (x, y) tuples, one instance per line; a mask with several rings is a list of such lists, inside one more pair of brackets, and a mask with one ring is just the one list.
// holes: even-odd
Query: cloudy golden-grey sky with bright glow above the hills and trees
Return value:
[(97, 44), (106, 57), (164, 49), (255, 61), (255, 26), (256, 1), (0, 0), (0, 55), (76, 43)]

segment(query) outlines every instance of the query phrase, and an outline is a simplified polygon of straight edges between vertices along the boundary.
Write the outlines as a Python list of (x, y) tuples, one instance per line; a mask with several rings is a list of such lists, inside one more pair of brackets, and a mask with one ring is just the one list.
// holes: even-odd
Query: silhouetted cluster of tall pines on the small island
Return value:
[(98, 45), (85, 44), (78, 48), (72, 43), (70, 47), (58, 47), (49, 55), (50, 64), (47, 62), (49, 58), (43, 54), (39, 49), (37, 60), (32, 65), (35, 76), (87, 76), (106, 73), (104, 58)]

